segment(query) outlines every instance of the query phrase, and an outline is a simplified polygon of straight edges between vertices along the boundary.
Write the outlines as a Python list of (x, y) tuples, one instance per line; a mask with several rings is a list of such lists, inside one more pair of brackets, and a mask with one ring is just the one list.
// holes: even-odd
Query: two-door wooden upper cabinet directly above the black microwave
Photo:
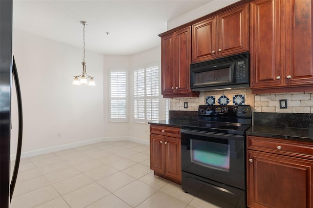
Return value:
[(192, 62), (248, 50), (248, 4), (192, 25)]

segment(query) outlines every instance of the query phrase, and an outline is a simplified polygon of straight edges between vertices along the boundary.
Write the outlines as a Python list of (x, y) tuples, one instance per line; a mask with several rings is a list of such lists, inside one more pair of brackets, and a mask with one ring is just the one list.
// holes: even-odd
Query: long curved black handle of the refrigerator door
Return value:
[(17, 95), (17, 101), (18, 101), (18, 110), (19, 110), (19, 135), (18, 135), (18, 146), (16, 151), (16, 158), (15, 158), (15, 165), (12, 175), (12, 181), (10, 184), (10, 201), (12, 200), (13, 191), (16, 183), (16, 179), (18, 176), (19, 166), (20, 166), (20, 160), (21, 160), (21, 150), (22, 150), (22, 132), (23, 132), (23, 113), (22, 113), (22, 96), (21, 96), (21, 88), (20, 88), (20, 81), (18, 76), (18, 71), (16, 68), (14, 56), (13, 56), (13, 77), (15, 82), (15, 88), (16, 88), (16, 95)]

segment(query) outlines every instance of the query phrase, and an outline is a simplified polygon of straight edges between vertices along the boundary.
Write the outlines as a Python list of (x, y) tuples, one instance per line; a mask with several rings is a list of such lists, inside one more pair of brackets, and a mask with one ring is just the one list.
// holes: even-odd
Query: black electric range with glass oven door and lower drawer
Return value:
[(198, 121), (181, 125), (181, 187), (223, 208), (246, 208), (249, 105), (200, 105)]

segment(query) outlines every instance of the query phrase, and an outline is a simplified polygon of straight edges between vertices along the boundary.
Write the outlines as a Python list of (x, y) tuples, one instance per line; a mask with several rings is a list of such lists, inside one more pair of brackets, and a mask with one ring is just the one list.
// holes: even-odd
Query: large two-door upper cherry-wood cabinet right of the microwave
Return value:
[(313, 2), (250, 2), (252, 93), (312, 91)]

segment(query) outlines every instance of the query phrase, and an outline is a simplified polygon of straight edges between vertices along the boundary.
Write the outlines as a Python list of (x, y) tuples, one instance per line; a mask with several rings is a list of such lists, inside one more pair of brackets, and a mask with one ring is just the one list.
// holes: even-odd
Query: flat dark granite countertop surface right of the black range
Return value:
[(246, 131), (246, 135), (313, 143), (313, 129), (308, 128), (253, 125)]

